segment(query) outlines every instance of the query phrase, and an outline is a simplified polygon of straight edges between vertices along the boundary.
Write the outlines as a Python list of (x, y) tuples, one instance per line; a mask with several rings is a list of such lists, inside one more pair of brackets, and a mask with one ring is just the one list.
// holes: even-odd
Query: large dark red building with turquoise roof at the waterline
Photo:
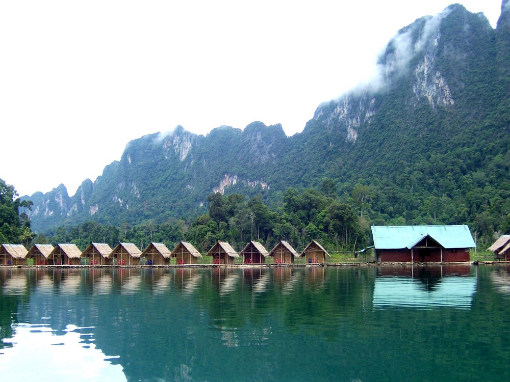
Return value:
[(475, 247), (469, 227), (372, 226), (375, 261), (469, 261)]

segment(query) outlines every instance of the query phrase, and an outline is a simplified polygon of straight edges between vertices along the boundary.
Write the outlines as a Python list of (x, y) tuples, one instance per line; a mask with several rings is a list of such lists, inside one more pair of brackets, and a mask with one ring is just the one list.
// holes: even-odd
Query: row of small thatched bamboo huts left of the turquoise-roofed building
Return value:
[[(232, 246), (224, 241), (217, 241), (206, 256), (210, 264), (235, 264), (243, 260), (244, 264), (265, 264), (272, 259), (273, 264), (293, 264), (296, 257), (304, 257), (305, 263), (321, 264), (326, 257), (331, 257), (316, 241), (312, 240), (298, 254), (287, 241), (280, 241), (268, 252), (262, 243), (250, 241), (244, 249), (237, 253)], [(75, 244), (34, 244), (27, 250), (21, 244), (2, 244), (0, 247), (0, 264), (2, 265), (170, 265), (170, 259), (177, 265), (198, 264), (202, 258), (200, 252), (188, 242), (180, 241), (173, 251), (162, 243), (151, 242), (141, 251), (133, 243), (119, 242), (112, 250), (106, 243), (90, 243), (81, 251)], [(172, 262), (173, 263), (173, 262)], [(203, 262), (202, 262), (203, 263)], [(206, 262), (207, 263), (207, 262)]]

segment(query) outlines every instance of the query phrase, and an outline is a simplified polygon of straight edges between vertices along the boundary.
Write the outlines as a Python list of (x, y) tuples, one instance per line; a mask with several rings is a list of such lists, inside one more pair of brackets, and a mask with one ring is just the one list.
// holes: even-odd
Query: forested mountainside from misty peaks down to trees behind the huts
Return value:
[(460, 5), (406, 26), (373, 83), (292, 137), (254, 122), (132, 141), (73, 197), (60, 185), (22, 198), (32, 227), (63, 241), (92, 240), (91, 224), (114, 241), (320, 237), (352, 250), (371, 224), (468, 224), (487, 248), (510, 229), (509, 4), (496, 29)]

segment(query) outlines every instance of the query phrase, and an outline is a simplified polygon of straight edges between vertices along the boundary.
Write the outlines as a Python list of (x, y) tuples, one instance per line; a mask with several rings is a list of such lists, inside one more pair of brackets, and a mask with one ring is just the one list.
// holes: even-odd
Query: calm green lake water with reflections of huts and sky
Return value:
[(4, 268), (0, 286), (2, 380), (510, 380), (510, 265)]

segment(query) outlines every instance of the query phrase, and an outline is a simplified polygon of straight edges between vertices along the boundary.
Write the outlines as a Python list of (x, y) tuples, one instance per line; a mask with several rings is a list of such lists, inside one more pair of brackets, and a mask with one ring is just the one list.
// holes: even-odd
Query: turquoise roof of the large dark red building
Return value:
[(473, 248), (469, 227), (462, 226), (372, 226), (376, 249), (413, 248), (425, 237), (436, 240), (443, 248)]

